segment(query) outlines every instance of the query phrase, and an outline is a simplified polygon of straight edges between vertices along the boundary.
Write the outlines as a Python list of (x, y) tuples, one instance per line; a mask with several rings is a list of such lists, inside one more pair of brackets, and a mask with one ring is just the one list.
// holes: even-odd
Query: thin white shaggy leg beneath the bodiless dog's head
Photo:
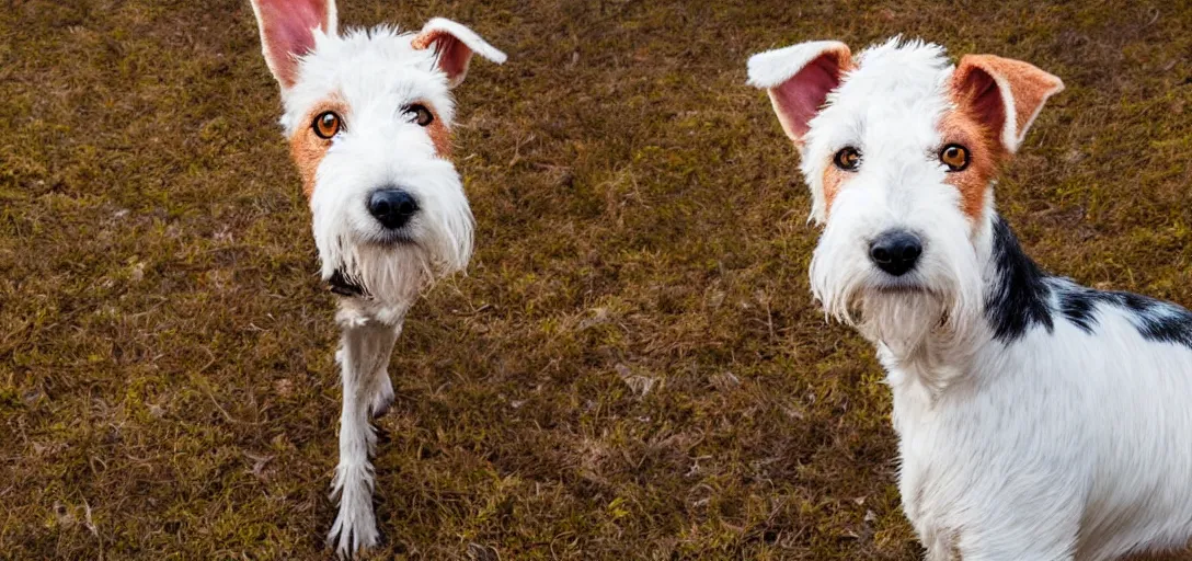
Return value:
[(343, 335), (336, 359), (343, 379), (343, 411), (340, 414), (340, 465), (331, 484), (331, 497), (340, 498), (340, 513), (331, 525), (328, 543), (343, 557), (375, 546), (380, 537), (373, 515), (370, 461), (377, 435), (368, 418), (377, 400), (384, 398), (386, 391), (392, 394), (386, 366), (401, 326), (371, 319), (341, 322), (341, 325)]

